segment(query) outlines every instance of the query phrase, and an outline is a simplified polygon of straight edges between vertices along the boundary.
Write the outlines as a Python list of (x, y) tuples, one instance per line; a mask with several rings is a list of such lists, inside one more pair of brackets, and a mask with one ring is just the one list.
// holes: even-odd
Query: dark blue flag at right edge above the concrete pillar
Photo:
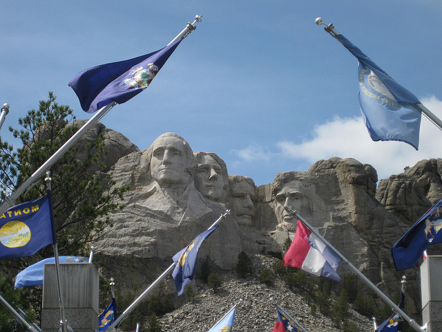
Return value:
[(432, 206), (392, 248), (396, 270), (412, 268), (428, 246), (442, 242), (442, 199)]

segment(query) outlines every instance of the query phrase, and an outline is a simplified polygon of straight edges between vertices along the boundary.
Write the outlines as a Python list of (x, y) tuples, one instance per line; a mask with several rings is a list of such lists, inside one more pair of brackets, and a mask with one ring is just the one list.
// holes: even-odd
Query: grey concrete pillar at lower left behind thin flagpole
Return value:
[[(89, 263), (62, 263), (59, 272), (68, 326), (75, 332), (97, 331), (99, 314), (97, 269)], [(58, 332), (60, 327), (55, 264), (45, 264), (41, 329), (44, 332)]]

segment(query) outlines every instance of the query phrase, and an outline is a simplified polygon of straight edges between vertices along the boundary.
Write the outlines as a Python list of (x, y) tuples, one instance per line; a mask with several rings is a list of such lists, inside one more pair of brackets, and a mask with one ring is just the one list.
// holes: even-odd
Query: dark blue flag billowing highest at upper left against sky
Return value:
[(122, 104), (146, 89), (182, 39), (153, 53), (81, 71), (70, 80), (81, 109), (94, 113), (117, 102)]

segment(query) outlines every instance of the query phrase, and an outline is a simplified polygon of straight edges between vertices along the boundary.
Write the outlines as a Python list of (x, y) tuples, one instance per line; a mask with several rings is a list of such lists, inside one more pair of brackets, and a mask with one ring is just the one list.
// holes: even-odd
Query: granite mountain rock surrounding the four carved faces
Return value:
[[(88, 139), (101, 131), (109, 132), (100, 127)], [(140, 151), (124, 140), (124, 136), (115, 134), (108, 138), (106, 149), (113, 156), (105, 160), (108, 174), (117, 186), (131, 185), (131, 189), (125, 196), (125, 208), (110, 216), (113, 228), (94, 246), (97, 257), (104, 262), (104, 277), (114, 277), (121, 288), (133, 293), (151, 284), (172, 264), (176, 252), (209, 228), (227, 209), (238, 210), (238, 200), (244, 199), (235, 190), (227, 190), (227, 197), (221, 201), (203, 196), (192, 181), (200, 162), (190, 156), (192, 151), (186, 147), (189, 144), (174, 135), (166, 136), (182, 141), (189, 150), (186, 163), (192, 165), (182, 170), (191, 180), (179, 188), (153, 181), (155, 144)], [(278, 204), (285, 202), (276, 197), (284, 181), (289, 181), (296, 183), (298, 196), (293, 202), (298, 205), (296, 210), (300, 215), (386, 295), (394, 297), (401, 276), (407, 275), (405, 311), (418, 316), (421, 312), (419, 267), (397, 272), (391, 248), (432, 203), (442, 198), (441, 171), (441, 159), (422, 160), (404, 174), (392, 175), (378, 183), (372, 166), (352, 158), (335, 157), (319, 160), (307, 172), (276, 174), (275, 181), (267, 185), (256, 187), (251, 181), (247, 194), (253, 203), (251, 224), (238, 222), (238, 213), (225, 216), (219, 229), (200, 248), (198, 264), (207, 260), (212, 270), (226, 272), (234, 270), (242, 251), (259, 255), (282, 250), (287, 237), (293, 239), (294, 230), (278, 227), (281, 221)], [(215, 176), (215, 173), (208, 174)], [(225, 174), (223, 170), (216, 176), (225, 177)], [(240, 176), (232, 176), (230, 180), (233, 178)], [(218, 182), (227, 183), (223, 180)], [(338, 273), (352, 272), (341, 262)], [(175, 293), (173, 281), (169, 279), (156, 292)]]

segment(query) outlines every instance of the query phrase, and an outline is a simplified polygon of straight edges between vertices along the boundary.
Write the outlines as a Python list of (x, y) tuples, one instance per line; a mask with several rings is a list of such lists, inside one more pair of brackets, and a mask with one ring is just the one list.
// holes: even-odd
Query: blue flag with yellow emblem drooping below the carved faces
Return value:
[(216, 228), (218, 228), (218, 226), (202, 232), (198, 237), (193, 239), (189, 246), (186, 246), (186, 248), (180, 250), (172, 257), (176, 264), (172, 277), (175, 279), (178, 295), (182, 295), (184, 286), (192, 281), (193, 274), (195, 273), (196, 259), (198, 258), (198, 250), (200, 250), (202, 242), (209, 237)]

